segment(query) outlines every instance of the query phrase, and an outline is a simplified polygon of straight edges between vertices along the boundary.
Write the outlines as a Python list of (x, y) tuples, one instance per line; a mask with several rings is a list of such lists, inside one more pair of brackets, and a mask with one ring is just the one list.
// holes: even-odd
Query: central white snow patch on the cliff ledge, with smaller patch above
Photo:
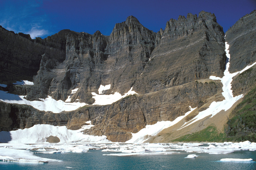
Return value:
[[(106, 86), (108, 86), (108, 85), (106, 85)], [(132, 91), (132, 88), (127, 93), (125, 93), (123, 96), (118, 92), (115, 92), (114, 94), (109, 94), (109, 95), (100, 94), (100, 92), (102, 93), (102, 89), (105, 89), (106, 86), (103, 86), (104, 88), (102, 88), (102, 87), (99, 88), (99, 94), (92, 92), (92, 98), (95, 99), (95, 102), (93, 103), (93, 105), (110, 105), (126, 96), (138, 94), (135, 91)]]

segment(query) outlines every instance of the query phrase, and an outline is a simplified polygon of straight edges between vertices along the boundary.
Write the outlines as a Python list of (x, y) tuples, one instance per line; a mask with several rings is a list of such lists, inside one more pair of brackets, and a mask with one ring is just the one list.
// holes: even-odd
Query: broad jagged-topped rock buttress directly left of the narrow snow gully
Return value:
[[(224, 33), (214, 14), (201, 12), (170, 19), (156, 37), (143, 74), (135, 83), (140, 93), (179, 86), (211, 75), (223, 76)], [(213, 50), (214, 49), (214, 50)], [(146, 86), (145, 86), (146, 85)]]

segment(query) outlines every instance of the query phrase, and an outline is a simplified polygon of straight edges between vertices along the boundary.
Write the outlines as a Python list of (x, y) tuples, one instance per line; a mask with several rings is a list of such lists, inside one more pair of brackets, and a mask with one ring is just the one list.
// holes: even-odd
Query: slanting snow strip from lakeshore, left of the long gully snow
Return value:
[(174, 121), (161, 121), (161, 122), (157, 122), (156, 124), (153, 124), (153, 125), (146, 125), (146, 127), (141, 129), (139, 132), (137, 132), (135, 134), (132, 133), (132, 138), (130, 140), (126, 141), (126, 143), (134, 143), (134, 142), (143, 143), (143, 142), (145, 142), (146, 140), (148, 140), (150, 138), (150, 136), (155, 136), (159, 132), (161, 132), (163, 129), (175, 125), (180, 120), (182, 120), (184, 117), (186, 117), (188, 114), (190, 114), (194, 109), (196, 109), (196, 108), (191, 108), (191, 106), (189, 106), (189, 108), (190, 108), (190, 111), (185, 113), (185, 115), (176, 118)]

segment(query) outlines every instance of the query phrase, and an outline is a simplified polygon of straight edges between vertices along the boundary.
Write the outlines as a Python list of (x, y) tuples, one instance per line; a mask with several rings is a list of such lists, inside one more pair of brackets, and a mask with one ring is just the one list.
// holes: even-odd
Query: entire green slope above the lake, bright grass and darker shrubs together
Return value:
[(256, 86), (232, 111), (225, 126), (225, 132), (220, 133), (215, 126), (208, 126), (199, 132), (181, 136), (172, 142), (239, 142), (245, 140), (256, 142)]

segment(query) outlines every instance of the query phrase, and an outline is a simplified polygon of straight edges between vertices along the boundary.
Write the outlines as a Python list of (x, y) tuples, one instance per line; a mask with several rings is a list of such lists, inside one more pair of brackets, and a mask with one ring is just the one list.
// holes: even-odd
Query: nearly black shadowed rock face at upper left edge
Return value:
[[(39, 69), (44, 46), (30, 36), (15, 34), (0, 26), (0, 77), (8, 84), (15, 80), (33, 80)], [(25, 37), (24, 37), (25, 36)]]

